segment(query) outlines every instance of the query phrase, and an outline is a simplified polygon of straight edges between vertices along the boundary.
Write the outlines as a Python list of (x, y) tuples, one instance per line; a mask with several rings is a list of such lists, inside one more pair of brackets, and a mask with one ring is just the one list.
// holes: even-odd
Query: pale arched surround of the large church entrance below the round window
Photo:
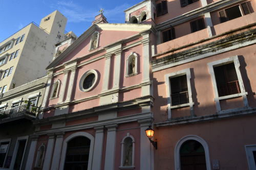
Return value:
[(88, 170), (92, 169), (92, 160), (93, 160), (93, 150), (94, 150), (94, 137), (93, 135), (86, 133), (86, 132), (76, 132), (73, 133), (72, 135), (68, 136), (64, 141), (63, 141), (63, 147), (62, 147), (62, 152), (61, 152), (61, 158), (60, 158), (60, 167), (59, 169), (63, 169), (65, 165), (65, 158), (66, 158), (66, 152), (67, 152), (67, 147), (68, 147), (68, 142), (72, 140), (73, 138), (83, 136), (87, 137), (88, 139), (91, 140), (90, 144), (90, 151), (89, 151), (89, 159), (88, 159)]

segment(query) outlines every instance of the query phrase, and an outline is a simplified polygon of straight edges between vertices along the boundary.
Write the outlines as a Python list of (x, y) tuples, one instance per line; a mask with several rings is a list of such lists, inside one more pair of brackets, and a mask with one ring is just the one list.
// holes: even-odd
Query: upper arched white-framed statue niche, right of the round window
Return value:
[(126, 59), (126, 76), (137, 74), (137, 54), (131, 53)]

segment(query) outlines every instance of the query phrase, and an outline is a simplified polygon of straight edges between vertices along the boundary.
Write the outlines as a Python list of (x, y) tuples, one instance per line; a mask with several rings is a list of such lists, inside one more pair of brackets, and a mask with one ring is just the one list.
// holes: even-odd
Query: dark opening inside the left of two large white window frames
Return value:
[(170, 78), (172, 106), (188, 103), (188, 89), (186, 75)]

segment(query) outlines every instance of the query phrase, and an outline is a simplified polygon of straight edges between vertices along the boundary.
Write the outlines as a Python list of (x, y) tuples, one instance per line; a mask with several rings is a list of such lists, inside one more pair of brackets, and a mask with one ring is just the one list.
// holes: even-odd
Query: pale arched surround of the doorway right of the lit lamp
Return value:
[(182, 144), (188, 140), (196, 140), (203, 145), (204, 152), (205, 152), (206, 168), (207, 168), (207, 170), (211, 170), (208, 145), (204, 139), (202, 139), (201, 137), (196, 136), (196, 135), (185, 136), (185, 137), (181, 138), (178, 141), (178, 143), (176, 144), (176, 147), (175, 147), (175, 170), (181, 170), (180, 149), (182, 147)]

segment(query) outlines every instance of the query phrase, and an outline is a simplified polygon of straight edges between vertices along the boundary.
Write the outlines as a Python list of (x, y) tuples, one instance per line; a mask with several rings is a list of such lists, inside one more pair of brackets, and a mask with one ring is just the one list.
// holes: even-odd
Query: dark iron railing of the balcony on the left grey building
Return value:
[(20, 105), (20, 106), (12, 107), (10, 109), (0, 111), (0, 119), (6, 118), (9, 116), (14, 116), (20, 113), (23, 113), (23, 114), (26, 113), (32, 116), (36, 116), (36, 112), (38, 110), (39, 108), (33, 105), (29, 105), (29, 104)]

